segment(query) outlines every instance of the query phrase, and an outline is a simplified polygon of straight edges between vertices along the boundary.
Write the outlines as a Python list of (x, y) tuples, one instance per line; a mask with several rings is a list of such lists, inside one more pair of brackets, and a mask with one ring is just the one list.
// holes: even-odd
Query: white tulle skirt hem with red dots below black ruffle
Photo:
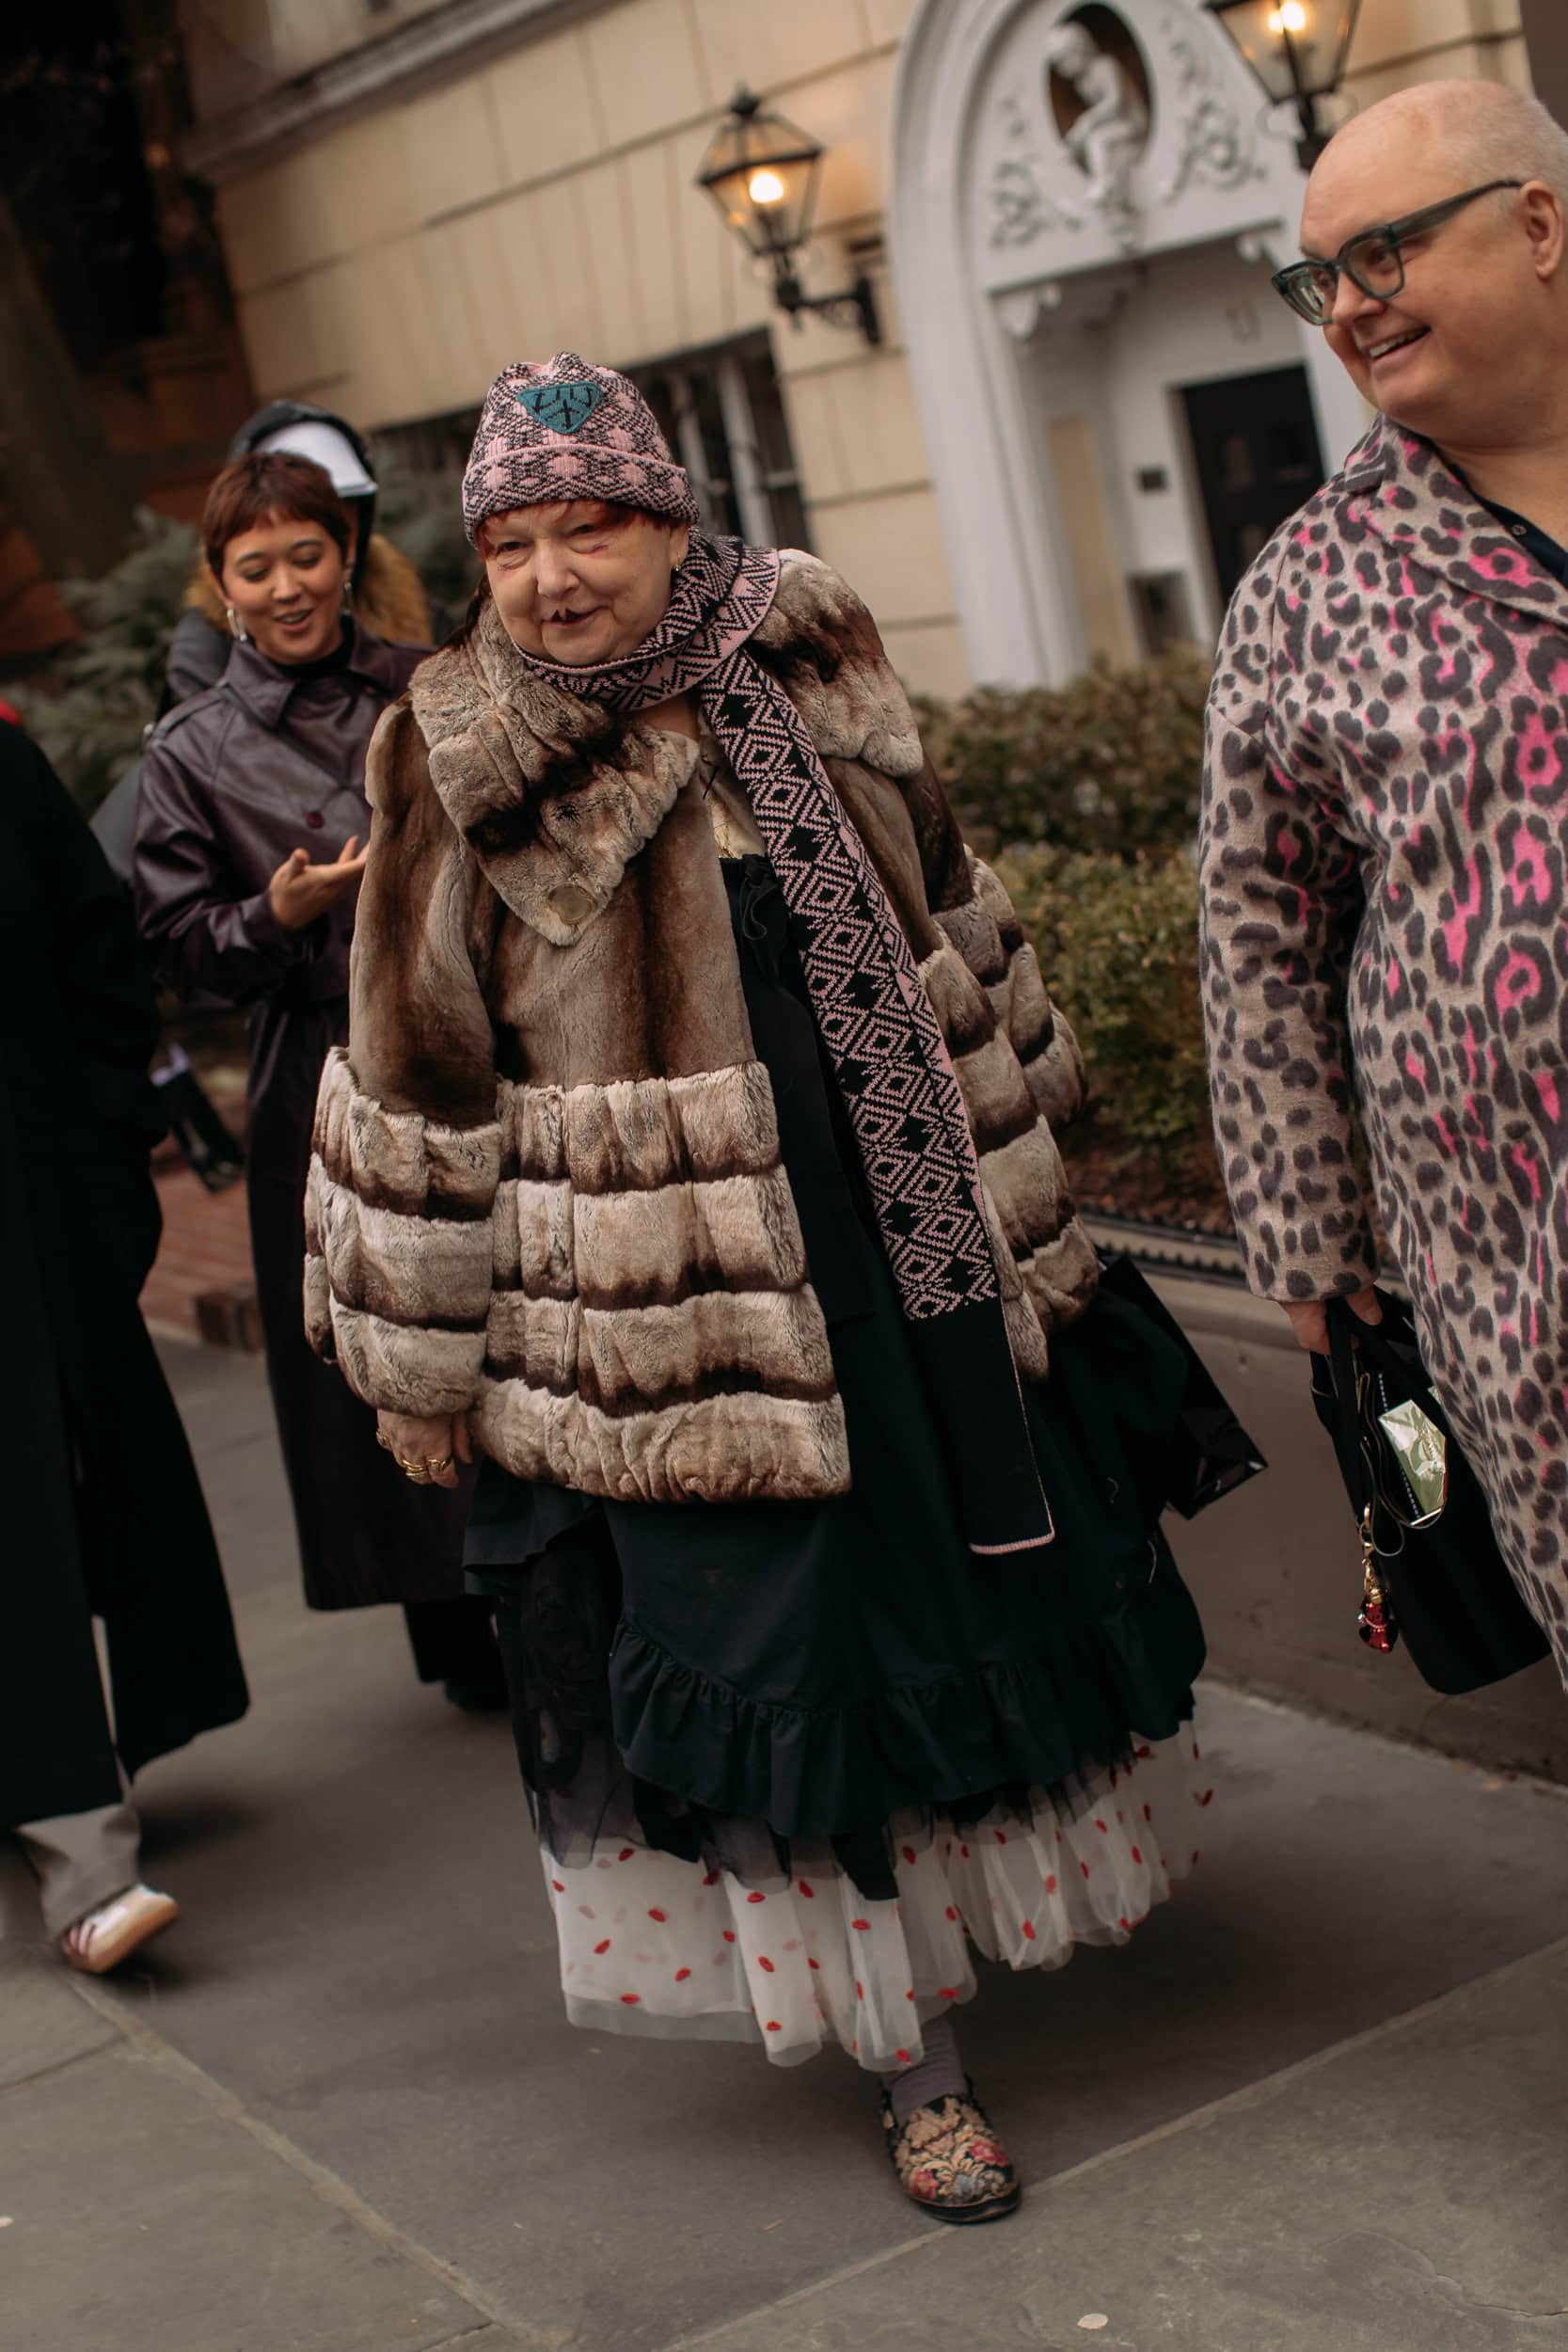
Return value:
[(567, 2016), (595, 2032), (759, 2042), (799, 2065), (837, 2042), (886, 2072), (922, 2056), (922, 2020), (976, 1992), (973, 1952), (1060, 1969), (1077, 1943), (1126, 1943), (1199, 1860), (1213, 1799), (1201, 1743), (1138, 1745), (1063, 1809), (910, 1830), (898, 1898), (867, 1903), (830, 1846), (790, 1846), (790, 1877), (748, 1886), (644, 1846), (543, 1856)]

